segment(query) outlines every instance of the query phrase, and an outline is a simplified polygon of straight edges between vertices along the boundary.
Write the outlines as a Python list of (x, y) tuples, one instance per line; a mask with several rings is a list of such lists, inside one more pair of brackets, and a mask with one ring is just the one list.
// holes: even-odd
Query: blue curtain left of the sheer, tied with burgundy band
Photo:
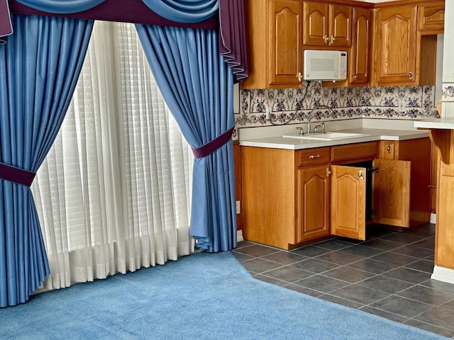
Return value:
[(33, 174), (43, 163), (93, 27), (70, 18), (12, 19), (14, 33), (0, 46), (0, 307), (26, 302), (49, 274), (31, 189), (11, 178)]

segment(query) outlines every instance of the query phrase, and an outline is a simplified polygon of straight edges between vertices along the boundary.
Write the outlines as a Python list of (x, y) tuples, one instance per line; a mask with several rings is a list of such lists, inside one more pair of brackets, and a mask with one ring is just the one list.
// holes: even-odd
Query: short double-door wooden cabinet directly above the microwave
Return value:
[(350, 47), (351, 6), (304, 1), (303, 8), (303, 45)]

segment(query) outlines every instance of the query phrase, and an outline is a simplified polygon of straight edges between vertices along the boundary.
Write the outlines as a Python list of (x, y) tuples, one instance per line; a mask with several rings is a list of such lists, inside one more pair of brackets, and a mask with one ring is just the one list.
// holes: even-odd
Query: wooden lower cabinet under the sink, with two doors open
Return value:
[[(415, 141), (422, 159), (408, 160), (375, 159), (388, 147), (382, 143), (379, 151), (377, 142), (304, 150), (242, 147), (244, 239), (293, 249), (329, 235), (365, 240), (369, 222), (410, 227), (412, 176), (426, 171), (414, 168), (427, 167), (430, 174), (430, 141), (426, 164), (421, 147), (427, 141)], [(393, 158), (404, 157), (408, 142), (394, 142)], [(426, 186), (425, 175), (415, 177)], [(423, 196), (424, 219), (430, 219), (429, 191)]]

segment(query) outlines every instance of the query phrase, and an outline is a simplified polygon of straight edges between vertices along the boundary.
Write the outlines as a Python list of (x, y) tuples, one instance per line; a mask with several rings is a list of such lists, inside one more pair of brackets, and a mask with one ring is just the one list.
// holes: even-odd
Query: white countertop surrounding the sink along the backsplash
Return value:
[[(454, 119), (452, 120), (454, 128)], [(416, 127), (416, 123), (415, 123)], [(328, 132), (328, 131), (327, 131)], [(360, 137), (349, 137), (337, 140), (309, 140), (287, 137), (266, 137), (259, 139), (240, 140), (244, 147), (269, 147), (274, 149), (311, 149), (313, 147), (330, 147), (333, 145), (345, 145), (360, 142), (372, 142), (375, 140), (412, 140), (415, 138), (428, 137), (424, 130), (386, 130), (371, 128), (355, 128), (337, 132), (353, 132), (365, 134)]]

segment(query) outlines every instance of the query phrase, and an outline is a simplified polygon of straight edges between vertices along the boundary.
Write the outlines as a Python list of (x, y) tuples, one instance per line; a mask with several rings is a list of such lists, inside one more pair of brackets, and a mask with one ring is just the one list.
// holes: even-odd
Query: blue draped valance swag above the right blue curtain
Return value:
[(153, 12), (177, 23), (199, 23), (217, 13), (218, 0), (142, 0)]

